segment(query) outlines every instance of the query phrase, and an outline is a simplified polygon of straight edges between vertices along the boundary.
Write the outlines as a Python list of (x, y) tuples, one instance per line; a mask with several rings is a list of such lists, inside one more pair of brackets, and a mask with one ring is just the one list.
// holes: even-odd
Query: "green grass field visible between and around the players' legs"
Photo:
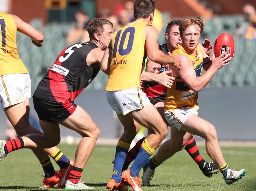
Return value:
[[(69, 158), (74, 158), (76, 145), (61, 144), (59, 148)], [(199, 147), (201, 155), (210, 161), (204, 147)], [(144, 191), (256, 191), (256, 147), (222, 147), (226, 162), (231, 168), (245, 168), (246, 175), (234, 183), (226, 185), (221, 173), (207, 178), (185, 150), (176, 153), (156, 169), (152, 186), (143, 187)], [(82, 181), (95, 190), (106, 190), (111, 177), (114, 158), (114, 146), (96, 146), (91, 158), (83, 170)], [(56, 170), (58, 166), (53, 162)], [(49, 190), (38, 189), (41, 186), (43, 170), (32, 151), (21, 149), (9, 153), (6, 160), (0, 162), (1, 190)], [(142, 175), (142, 171), (141, 171)], [(50, 189), (57, 191), (60, 189)], [(130, 191), (132, 188), (129, 189)]]

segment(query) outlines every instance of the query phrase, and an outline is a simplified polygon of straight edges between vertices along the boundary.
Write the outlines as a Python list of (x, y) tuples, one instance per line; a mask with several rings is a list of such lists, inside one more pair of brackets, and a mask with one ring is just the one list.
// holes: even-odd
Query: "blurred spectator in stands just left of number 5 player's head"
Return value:
[(89, 16), (83, 11), (79, 9), (75, 12), (76, 18), (76, 28), (73, 28), (69, 31), (67, 35), (66, 42), (67, 44), (74, 44), (76, 42), (87, 42), (89, 41), (88, 32), (85, 30), (87, 25), (89, 24)]

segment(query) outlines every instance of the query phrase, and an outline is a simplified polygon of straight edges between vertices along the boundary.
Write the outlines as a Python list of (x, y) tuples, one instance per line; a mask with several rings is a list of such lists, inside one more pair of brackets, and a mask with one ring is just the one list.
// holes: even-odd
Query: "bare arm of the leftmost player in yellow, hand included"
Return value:
[[(11, 14), (10, 14), (11, 15)], [(32, 38), (32, 43), (35, 44), (38, 47), (41, 47), (43, 45), (44, 35), (41, 33), (41, 31), (37, 31), (34, 27), (32, 27), (30, 24), (24, 22), (16, 15), (11, 15), (13, 17), (13, 20), (17, 26), (17, 30), (20, 33), (23, 33), (30, 38)]]

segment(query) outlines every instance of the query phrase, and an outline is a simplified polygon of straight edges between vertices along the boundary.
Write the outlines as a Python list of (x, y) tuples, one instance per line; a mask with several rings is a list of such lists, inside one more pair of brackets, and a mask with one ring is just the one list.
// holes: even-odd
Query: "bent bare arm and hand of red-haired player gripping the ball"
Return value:
[(215, 58), (213, 53), (213, 60), (212, 60), (211, 66), (206, 71), (206, 73), (204, 73), (202, 76), (199, 76), (199, 77), (196, 76), (195, 70), (191, 65), (191, 60), (189, 60), (187, 56), (176, 55), (175, 57), (177, 57), (181, 63), (181, 69), (176, 72), (182, 78), (182, 80), (184, 80), (184, 82), (190, 89), (198, 92), (206, 84), (208, 84), (208, 82), (211, 80), (211, 78), (214, 76), (214, 74), (217, 72), (218, 69), (220, 69), (224, 65), (229, 64), (229, 61), (231, 59), (230, 54), (227, 54), (226, 56), (224, 56), (225, 54), (226, 52), (221, 54), (219, 57)]

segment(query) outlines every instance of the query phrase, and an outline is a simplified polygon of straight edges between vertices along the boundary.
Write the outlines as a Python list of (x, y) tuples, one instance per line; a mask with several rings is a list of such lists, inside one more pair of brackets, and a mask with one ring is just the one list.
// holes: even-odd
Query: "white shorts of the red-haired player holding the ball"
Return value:
[(170, 126), (176, 127), (180, 130), (187, 118), (192, 114), (197, 115), (197, 109), (184, 107), (173, 111), (165, 111), (165, 119)]

